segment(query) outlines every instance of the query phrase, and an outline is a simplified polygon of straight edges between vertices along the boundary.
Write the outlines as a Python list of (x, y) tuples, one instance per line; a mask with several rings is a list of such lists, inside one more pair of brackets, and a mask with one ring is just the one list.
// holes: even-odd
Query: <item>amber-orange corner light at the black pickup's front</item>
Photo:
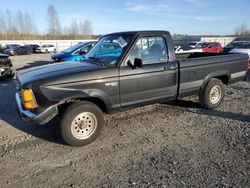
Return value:
[(23, 104), (26, 109), (35, 109), (38, 107), (35, 96), (31, 89), (22, 90)]

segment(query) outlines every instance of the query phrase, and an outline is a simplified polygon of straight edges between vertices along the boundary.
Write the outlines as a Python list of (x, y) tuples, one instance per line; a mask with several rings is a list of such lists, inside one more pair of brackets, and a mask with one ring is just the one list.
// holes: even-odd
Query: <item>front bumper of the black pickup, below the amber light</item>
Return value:
[(16, 93), (16, 102), (18, 106), (18, 111), (21, 119), (35, 122), (40, 125), (44, 125), (48, 123), (51, 119), (53, 119), (58, 114), (58, 108), (55, 105), (50, 106), (49, 108), (43, 110), (39, 114), (35, 114), (30, 110), (25, 110), (22, 106), (22, 101), (19, 93)]

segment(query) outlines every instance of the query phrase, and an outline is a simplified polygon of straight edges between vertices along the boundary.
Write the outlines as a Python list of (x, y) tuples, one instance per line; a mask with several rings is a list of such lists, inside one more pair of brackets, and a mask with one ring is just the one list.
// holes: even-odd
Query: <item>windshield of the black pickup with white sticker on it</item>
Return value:
[(86, 59), (93, 59), (105, 64), (115, 64), (131, 39), (132, 35), (103, 37), (87, 54)]

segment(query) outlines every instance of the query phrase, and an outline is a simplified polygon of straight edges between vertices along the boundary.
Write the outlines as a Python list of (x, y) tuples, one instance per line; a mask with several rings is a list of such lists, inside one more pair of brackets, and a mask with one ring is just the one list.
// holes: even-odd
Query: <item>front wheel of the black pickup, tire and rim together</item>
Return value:
[(60, 132), (67, 144), (84, 146), (97, 138), (103, 124), (103, 114), (98, 106), (87, 101), (77, 102), (64, 112)]

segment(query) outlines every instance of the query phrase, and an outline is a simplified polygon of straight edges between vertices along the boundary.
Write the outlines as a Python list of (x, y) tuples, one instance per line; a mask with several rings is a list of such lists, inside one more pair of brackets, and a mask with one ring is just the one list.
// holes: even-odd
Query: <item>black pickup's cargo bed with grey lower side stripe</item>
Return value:
[(224, 84), (243, 79), (247, 62), (242, 63), (242, 59), (247, 56), (227, 53), (189, 54), (186, 59), (179, 60), (179, 96), (194, 92), (198, 94), (200, 87), (210, 78), (220, 77)]

